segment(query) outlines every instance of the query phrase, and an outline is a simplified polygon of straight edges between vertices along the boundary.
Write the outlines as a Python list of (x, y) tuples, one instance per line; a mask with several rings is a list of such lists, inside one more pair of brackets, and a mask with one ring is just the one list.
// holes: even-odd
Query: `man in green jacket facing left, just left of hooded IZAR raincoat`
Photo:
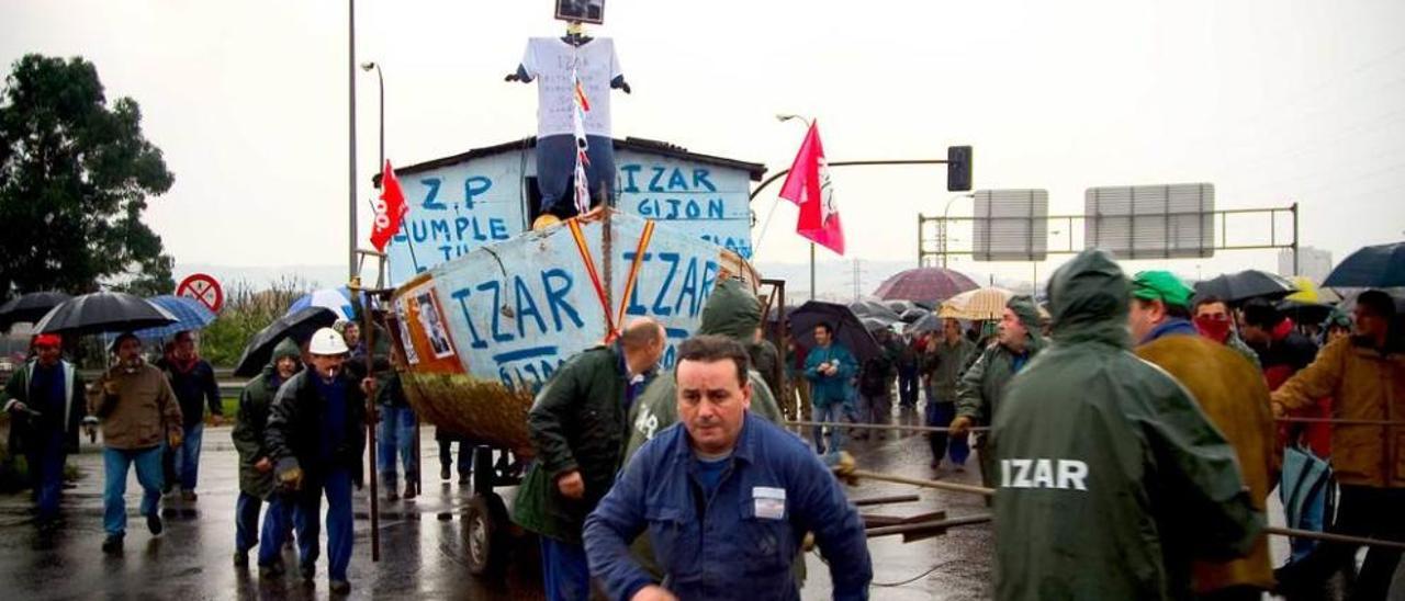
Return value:
[[(1034, 299), (1026, 295), (1012, 296), (1005, 303), (995, 344), (985, 347), (957, 382), (957, 418), (951, 420), (951, 434), (960, 437), (972, 425), (991, 425), (996, 404), (1005, 396), (1005, 386), (1041, 348), (1044, 338), (1040, 336), (1040, 310)], [(981, 482), (991, 487), (995, 486), (995, 463), (985, 442), (985, 437), (975, 437), (971, 447), (978, 451)]]

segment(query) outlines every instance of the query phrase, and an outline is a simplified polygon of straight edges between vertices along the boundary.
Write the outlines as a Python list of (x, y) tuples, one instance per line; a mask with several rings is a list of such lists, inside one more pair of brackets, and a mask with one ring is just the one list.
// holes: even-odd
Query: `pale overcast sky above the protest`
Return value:
[[(391, 160), (532, 135), (535, 90), (503, 74), (525, 38), (563, 31), (551, 7), (358, 1), (357, 59), (385, 69)], [(1302, 243), (1340, 260), (1405, 237), (1401, 24), (1405, 3), (1391, 0), (610, 0), (606, 25), (590, 31), (615, 38), (634, 87), (615, 93), (617, 138), (774, 171), (804, 135), (774, 115), (798, 112), (819, 119), (832, 161), (972, 145), (978, 188), (1047, 188), (1054, 213), (1082, 212), (1090, 185), (1208, 181), (1220, 208), (1298, 202)], [(177, 264), (344, 263), (344, 1), (6, 0), (0, 62), (8, 72), (28, 52), (81, 55), (110, 100), (140, 103), (146, 136), (176, 174), (148, 220)], [(375, 76), (358, 72), (357, 83), (364, 199), (378, 107)], [(915, 261), (917, 212), (940, 213), (951, 198), (941, 169), (833, 178), (850, 257)], [(762, 220), (773, 199), (756, 201)], [(953, 205), (962, 211), (968, 202)], [(792, 205), (776, 209), (757, 244), (763, 267), (805, 260), (794, 222)], [(1276, 253), (1170, 267), (1201, 265), (1273, 268)]]

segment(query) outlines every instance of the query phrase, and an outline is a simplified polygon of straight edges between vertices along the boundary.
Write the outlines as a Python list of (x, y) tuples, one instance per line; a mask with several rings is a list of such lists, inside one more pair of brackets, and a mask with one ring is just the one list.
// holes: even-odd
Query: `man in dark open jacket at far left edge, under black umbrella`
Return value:
[(34, 337), (34, 358), (6, 383), (10, 452), (24, 454), (34, 486), (41, 531), (58, 525), (63, 463), (79, 449), (84, 409), (83, 378), (62, 358), (59, 334)]

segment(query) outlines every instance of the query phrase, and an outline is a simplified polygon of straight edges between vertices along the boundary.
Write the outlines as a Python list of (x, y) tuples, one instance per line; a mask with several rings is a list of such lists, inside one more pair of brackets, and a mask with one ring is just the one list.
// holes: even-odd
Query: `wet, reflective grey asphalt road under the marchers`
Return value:
[[(538, 600), (541, 570), (531, 545), (521, 545), (507, 576), (489, 581), (472, 576), (459, 520), (469, 500), (468, 484), (438, 480), (438, 455), (433, 428), (422, 434), (424, 491), (413, 501), (381, 504), (381, 562), (371, 562), (370, 504), (362, 491), (355, 500), (355, 550), (351, 559), (350, 598)], [(929, 477), (926, 441), (920, 435), (856, 441), (860, 465), (880, 472)], [(260, 580), (256, 567), (233, 567), (233, 507), (237, 494), (236, 455), (229, 428), (207, 428), (201, 456), (200, 498), (163, 500), (166, 532), (152, 536), (138, 515), (140, 489), (135, 472), (128, 483), (128, 532), (122, 556), (108, 557), (103, 543), (103, 469), (97, 447), (70, 458), (81, 470), (77, 487), (65, 491), (65, 525), (41, 536), (30, 517), (28, 493), (0, 496), (0, 581), (4, 598), (22, 600), (223, 600), (326, 598), (326, 553), (311, 586), (296, 574), (296, 556), (285, 553), (289, 576)], [(978, 483), (974, 469), (947, 473), (955, 482)], [(853, 498), (917, 493), (920, 501), (867, 508), (867, 513), (908, 517), (934, 510), (948, 515), (984, 513), (979, 498), (941, 491), (915, 491), (909, 486), (864, 483), (851, 487)], [(511, 489), (500, 489), (511, 497)], [(384, 491), (382, 491), (384, 494)], [(323, 535), (323, 548), (326, 545)], [(899, 587), (874, 588), (884, 601), (978, 600), (988, 597), (991, 579), (989, 525), (953, 529), (946, 536), (902, 543), (899, 536), (871, 539), (874, 581), (898, 583), (939, 566), (930, 574)], [(806, 600), (829, 598), (829, 573), (818, 553), (806, 557)], [(253, 557), (250, 566), (253, 566)]]

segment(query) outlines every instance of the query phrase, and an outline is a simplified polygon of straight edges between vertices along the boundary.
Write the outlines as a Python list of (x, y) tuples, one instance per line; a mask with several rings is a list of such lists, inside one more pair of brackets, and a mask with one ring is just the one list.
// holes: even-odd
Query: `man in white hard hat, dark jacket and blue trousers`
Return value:
[[(370, 378), (357, 382), (346, 369), (346, 341), (323, 327), (308, 341), (311, 369), (284, 382), (274, 396), (264, 432), (264, 445), (274, 463), (278, 486), (289, 490), (280, 503), (292, 503), (298, 529), (299, 569), (312, 580), (319, 555), (318, 536), (322, 497), (327, 498), (327, 577), (333, 593), (351, 590), (347, 564), (351, 562), (351, 486), (361, 486), (361, 455), (365, 452), (365, 395)], [(284, 510), (264, 514), (263, 543), (259, 546), (261, 576), (282, 573), (278, 556), (287, 525)]]

